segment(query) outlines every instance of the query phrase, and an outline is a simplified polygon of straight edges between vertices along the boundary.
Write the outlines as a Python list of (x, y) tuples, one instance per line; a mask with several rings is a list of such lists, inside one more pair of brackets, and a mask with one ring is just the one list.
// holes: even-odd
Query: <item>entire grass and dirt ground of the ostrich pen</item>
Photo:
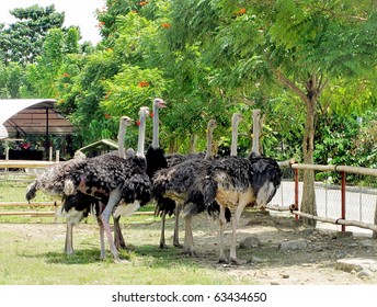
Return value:
[[(290, 204), (292, 184), (285, 181), (272, 204), (279, 204), (282, 195), (287, 197), (282, 205)], [(7, 195), (12, 197), (11, 201), (20, 202), (24, 197), (25, 185), (19, 181), (1, 181), (1, 196)], [(39, 201), (46, 201), (44, 195), (41, 197)], [(339, 269), (342, 259), (376, 260), (376, 240), (369, 239), (367, 234), (342, 238), (334, 229), (306, 228), (289, 214), (266, 214), (252, 209), (242, 214), (239, 242), (253, 238), (252, 241), (256, 243), (239, 249), (240, 258), (248, 260), (245, 265), (240, 266), (217, 263), (218, 223), (208, 220), (205, 215), (194, 219), (194, 241), (198, 258), (190, 258), (173, 248), (169, 237), (167, 242), (170, 248), (159, 249), (159, 218), (150, 215), (122, 218), (123, 232), (130, 248), (122, 252), (122, 257), (130, 261), (124, 265), (113, 264), (110, 258), (103, 262), (99, 260), (99, 236), (94, 218), (75, 228), (76, 254), (71, 257), (62, 253), (66, 226), (60, 218), (54, 223), (54, 217), (0, 216), (0, 223), (1, 247), (7, 247), (0, 252), (0, 284), (377, 283), (376, 274), (363, 276), (355, 270), (345, 272)], [(172, 218), (168, 220), (167, 227), (169, 236), (173, 229)], [(180, 230), (182, 239), (182, 221)], [(301, 249), (279, 249), (282, 242), (298, 239), (305, 242)], [(229, 246), (229, 226), (226, 240)]]

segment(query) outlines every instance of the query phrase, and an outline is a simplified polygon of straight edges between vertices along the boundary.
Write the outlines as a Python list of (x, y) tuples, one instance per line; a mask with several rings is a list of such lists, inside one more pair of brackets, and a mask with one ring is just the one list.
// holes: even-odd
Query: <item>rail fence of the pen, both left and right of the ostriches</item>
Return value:
[[(52, 161), (0, 161), (0, 169), (41, 169), (54, 164)], [(289, 161), (282, 162), (283, 182), (275, 197), (272, 200), (270, 209), (292, 209), (296, 216), (312, 218), (319, 221), (341, 226), (356, 226), (377, 232), (376, 204), (377, 204), (377, 170), (366, 168), (353, 168), (344, 166), (310, 166), (292, 164)], [(313, 170), (316, 172), (316, 200), (318, 215), (309, 215), (299, 212), (299, 198), (302, 196), (302, 183), (299, 181), (300, 170)], [(4, 172), (7, 174), (7, 172)], [(35, 175), (28, 172), (28, 175)], [(355, 178), (358, 177), (358, 178)], [(347, 184), (347, 178), (350, 179)], [(8, 179), (9, 180), (9, 179)], [(277, 205), (276, 205), (277, 204)], [(293, 206), (294, 204), (294, 206)], [(38, 211), (0, 211), (1, 215), (28, 215), (28, 216), (55, 216), (58, 204), (55, 202), (24, 203), (0, 203), (1, 207), (52, 207), (49, 212)], [(140, 213), (151, 214), (151, 213)]]

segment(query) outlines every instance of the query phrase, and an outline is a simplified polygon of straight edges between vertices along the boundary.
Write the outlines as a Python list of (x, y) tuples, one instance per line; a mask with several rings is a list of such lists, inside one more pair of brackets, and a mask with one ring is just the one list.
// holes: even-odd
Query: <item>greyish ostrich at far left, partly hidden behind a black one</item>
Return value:
[[(119, 135), (118, 135), (118, 148), (119, 155), (124, 156), (124, 135), (126, 127), (133, 124), (133, 120), (128, 116), (122, 116), (119, 120)], [(123, 151), (122, 151), (123, 150)], [(113, 152), (106, 155), (115, 155)], [(41, 190), (45, 194), (57, 196), (62, 201), (61, 206), (61, 216), (66, 218), (67, 231), (66, 231), (66, 243), (65, 243), (65, 253), (73, 253), (73, 240), (72, 240), (72, 230), (76, 224), (79, 224), (83, 218), (88, 217), (89, 213), (94, 212), (100, 225), (102, 221), (100, 217), (100, 204), (107, 202), (106, 195), (96, 195), (95, 197), (85, 195), (81, 192), (78, 192), (75, 195), (66, 195), (64, 193), (64, 180), (79, 164), (84, 160), (84, 155), (81, 151), (76, 152), (75, 158), (56, 163), (47, 168), (43, 173), (37, 175), (37, 178), (28, 185), (26, 191), (26, 200), (31, 202), (36, 195), (36, 192)], [(115, 232), (115, 245), (119, 248), (125, 248), (123, 235), (119, 227), (119, 217), (114, 218), (114, 232)], [(100, 236), (103, 236), (100, 230)], [(101, 239), (101, 242), (103, 239)]]

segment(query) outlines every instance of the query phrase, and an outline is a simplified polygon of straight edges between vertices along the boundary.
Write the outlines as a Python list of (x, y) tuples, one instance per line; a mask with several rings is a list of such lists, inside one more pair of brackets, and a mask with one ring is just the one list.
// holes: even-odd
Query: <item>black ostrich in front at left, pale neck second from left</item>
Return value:
[[(87, 159), (70, 171), (65, 178), (64, 192), (66, 195), (75, 195), (81, 192), (94, 197), (108, 197), (100, 221), (101, 234), (105, 234), (111, 253), (116, 262), (122, 262), (114, 245), (110, 216), (128, 216), (140, 206), (145, 205), (151, 196), (151, 182), (146, 172), (146, 159), (144, 156), (145, 127), (149, 109), (140, 109), (139, 139), (136, 156), (123, 159), (118, 156), (104, 155)], [(103, 235), (101, 235), (101, 259), (105, 257)]]

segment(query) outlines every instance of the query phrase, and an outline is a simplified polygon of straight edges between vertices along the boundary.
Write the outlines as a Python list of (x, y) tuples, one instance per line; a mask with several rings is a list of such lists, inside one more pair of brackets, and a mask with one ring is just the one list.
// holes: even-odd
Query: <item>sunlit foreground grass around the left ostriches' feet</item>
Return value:
[[(144, 230), (127, 228), (127, 235), (136, 235), (135, 240), (126, 239), (132, 246), (130, 251), (121, 252), (121, 257), (129, 263), (113, 263), (110, 253), (104, 261), (100, 261), (96, 229), (91, 225), (82, 225), (78, 229), (81, 231), (75, 232), (73, 255), (62, 253), (65, 238), (59, 232), (64, 229), (62, 225), (27, 225), (30, 235), (19, 231), (20, 227), (16, 225), (13, 231), (11, 227), (0, 230), (1, 246), (5, 247), (0, 251), (1, 285), (209, 285), (251, 282), (239, 280), (215, 266), (201, 264), (194, 258), (182, 254), (179, 249), (161, 250), (157, 243), (144, 243), (139, 235), (145, 231), (144, 235), (148, 236), (149, 227)], [(33, 234), (34, 228), (36, 232)]]

